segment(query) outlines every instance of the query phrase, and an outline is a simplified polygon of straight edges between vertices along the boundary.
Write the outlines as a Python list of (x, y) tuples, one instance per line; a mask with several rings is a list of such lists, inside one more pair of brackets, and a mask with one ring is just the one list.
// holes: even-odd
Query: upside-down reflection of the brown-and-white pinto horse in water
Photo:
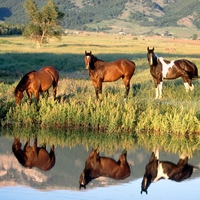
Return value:
[(146, 165), (144, 177), (141, 185), (141, 194), (146, 192), (152, 182), (157, 182), (160, 179), (169, 179), (176, 182), (181, 182), (190, 176), (193, 173), (192, 165), (188, 164), (188, 157), (185, 155), (180, 156), (177, 164), (174, 164), (169, 161), (160, 161), (159, 152), (153, 151), (149, 159), (148, 164)]

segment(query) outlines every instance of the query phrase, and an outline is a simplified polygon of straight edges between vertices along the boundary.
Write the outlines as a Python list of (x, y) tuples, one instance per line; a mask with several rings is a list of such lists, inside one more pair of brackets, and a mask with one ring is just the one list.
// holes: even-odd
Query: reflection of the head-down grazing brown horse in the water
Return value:
[(37, 147), (37, 138), (35, 138), (32, 147), (30, 146), (30, 140), (26, 142), (23, 150), (21, 146), (20, 140), (14, 138), (12, 152), (22, 166), (27, 168), (37, 167), (47, 171), (55, 165), (54, 145), (52, 145), (50, 153), (44, 147)]

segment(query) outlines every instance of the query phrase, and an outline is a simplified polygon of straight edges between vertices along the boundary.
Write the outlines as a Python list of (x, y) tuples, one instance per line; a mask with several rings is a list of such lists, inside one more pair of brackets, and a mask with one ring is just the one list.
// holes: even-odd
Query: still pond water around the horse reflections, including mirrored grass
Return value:
[[(16, 133), (17, 132), (17, 133)], [(139, 139), (122, 136), (117, 140), (113, 136), (91, 133), (42, 130), (37, 136), (37, 146), (46, 144), (47, 151), (54, 145), (55, 165), (48, 171), (38, 168), (23, 167), (12, 152), (15, 136), (20, 139), (22, 148), (30, 138), (33, 145), (34, 134), (27, 129), (2, 130), (0, 137), (0, 196), (1, 199), (198, 199), (200, 185), (200, 170), (194, 169), (190, 178), (175, 182), (159, 180), (151, 183), (148, 194), (141, 192), (141, 183), (145, 166), (149, 162), (153, 150), (147, 145), (141, 145)], [(55, 137), (53, 137), (53, 135)], [(61, 136), (62, 135), (62, 136)], [(88, 135), (88, 136), (86, 136)], [(91, 137), (91, 139), (90, 139)], [(111, 144), (111, 139), (113, 143)], [(69, 139), (70, 138), (70, 139)], [(62, 141), (63, 142), (62, 142)], [(97, 142), (98, 140), (99, 142)], [(108, 143), (106, 143), (108, 140)], [(91, 142), (93, 141), (93, 142)], [(149, 141), (150, 143), (151, 141)], [(165, 144), (167, 145), (167, 144)], [(186, 144), (187, 145), (187, 144)], [(79, 178), (84, 170), (85, 162), (93, 148), (99, 149), (100, 156), (119, 159), (123, 149), (127, 150), (127, 161), (130, 166), (130, 176), (124, 180), (114, 180), (99, 177), (91, 180), (86, 189), (79, 189)], [(177, 147), (182, 148), (182, 147)], [(193, 148), (193, 147), (191, 147)], [(188, 149), (188, 147), (187, 147)], [(194, 148), (193, 148), (194, 149)], [(178, 152), (178, 151), (177, 151)], [(179, 161), (179, 153), (175, 150), (160, 149), (160, 160), (175, 164)], [(200, 166), (200, 151), (198, 148), (190, 152), (188, 163)]]

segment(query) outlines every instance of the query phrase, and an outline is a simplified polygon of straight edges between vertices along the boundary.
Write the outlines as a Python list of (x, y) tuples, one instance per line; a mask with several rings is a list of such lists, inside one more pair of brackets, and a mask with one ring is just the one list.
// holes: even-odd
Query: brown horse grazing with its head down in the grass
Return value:
[(31, 102), (32, 94), (35, 95), (36, 102), (39, 100), (39, 92), (47, 91), (53, 85), (54, 100), (56, 99), (56, 90), (59, 80), (58, 71), (51, 66), (46, 66), (39, 71), (31, 71), (24, 75), (18, 83), (14, 96), (16, 104), (20, 104), (26, 90), (28, 99)]

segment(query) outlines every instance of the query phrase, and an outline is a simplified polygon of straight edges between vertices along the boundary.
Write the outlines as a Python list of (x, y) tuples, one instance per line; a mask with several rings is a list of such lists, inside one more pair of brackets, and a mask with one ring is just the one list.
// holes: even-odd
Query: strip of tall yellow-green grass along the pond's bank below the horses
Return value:
[[(145, 86), (137, 88), (136, 85), (134, 96), (131, 91), (127, 101), (123, 99), (122, 89), (112, 93), (113, 89), (110, 90), (110, 87), (106, 86), (102, 101), (96, 101), (93, 88), (87, 86), (80, 87), (78, 91), (75, 89), (77, 87), (74, 87), (74, 90), (70, 89), (71, 96), (61, 97), (57, 101), (53, 101), (52, 98), (49, 100), (41, 98), (38, 105), (34, 103), (29, 105), (24, 99), (21, 106), (13, 104), (10, 107), (2, 124), (38, 125), (45, 128), (76, 127), (106, 131), (110, 134), (132, 134), (143, 130), (159, 134), (200, 133), (198, 96), (194, 94), (183, 96), (182, 93), (185, 91), (176, 89), (176, 98), (167, 97), (161, 101), (155, 101), (154, 93), (146, 92), (148, 86), (149, 83), (146, 84), (146, 88)], [(198, 88), (197, 86), (196, 89)], [(63, 91), (66, 92), (66, 90)], [(165, 95), (171, 95), (170, 91)]]

